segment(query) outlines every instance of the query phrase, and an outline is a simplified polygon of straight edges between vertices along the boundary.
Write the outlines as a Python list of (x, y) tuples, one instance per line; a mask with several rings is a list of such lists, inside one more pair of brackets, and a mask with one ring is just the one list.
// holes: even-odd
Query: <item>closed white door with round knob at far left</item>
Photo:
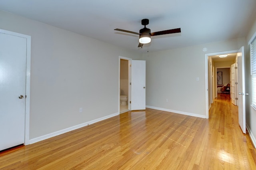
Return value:
[(0, 150), (4, 150), (24, 144), (26, 38), (0, 33), (0, 94)]

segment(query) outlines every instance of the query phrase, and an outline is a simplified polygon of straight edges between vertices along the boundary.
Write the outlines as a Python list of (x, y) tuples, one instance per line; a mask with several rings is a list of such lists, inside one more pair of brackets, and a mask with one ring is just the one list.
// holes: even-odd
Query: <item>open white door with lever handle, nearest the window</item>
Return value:
[(237, 70), (238, 70), (238, 121), (244, 133), (246, 133), (245, 119), (245, 68), (244, 68), (244, 46), (237, 53)]

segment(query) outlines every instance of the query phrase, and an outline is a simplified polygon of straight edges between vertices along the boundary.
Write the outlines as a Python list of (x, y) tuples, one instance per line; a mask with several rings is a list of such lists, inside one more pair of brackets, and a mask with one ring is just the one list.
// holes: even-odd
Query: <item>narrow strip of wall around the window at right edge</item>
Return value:
[(251, 81), (251, 74), (250, 74), (250, 45), (248, 45), (249, 40), (252, 38), (253, 34), (256, 32), (256, 20), (252, 22), (252, 28), (250, 32), (246, 36), (246, 128), (250, 132), (250, 136), (256, 146), (256, 111), (250, 106), (252, 103), (252, 81)]

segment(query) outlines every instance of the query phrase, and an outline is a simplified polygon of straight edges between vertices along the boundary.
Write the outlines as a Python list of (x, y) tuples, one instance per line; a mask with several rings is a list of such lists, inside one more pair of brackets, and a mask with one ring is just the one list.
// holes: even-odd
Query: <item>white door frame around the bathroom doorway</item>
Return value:
[(118, 113), (120, 114), (120, 67), (121, 67), (121, 59), (125, 59), (125, 60), (128, 60), (128, 110), (131, 110), (131, 104), (130, 104), (130, 101), (131, 101), (131, 86), (130, 86), (130, 83), (131, 83), (131, 67), (130, 65), (132, 64), (132, 59), (131, 58), (127, 58), (127, 57), (122, 57), (122, 56), (119, 56), (119, 67), (118, 67)]

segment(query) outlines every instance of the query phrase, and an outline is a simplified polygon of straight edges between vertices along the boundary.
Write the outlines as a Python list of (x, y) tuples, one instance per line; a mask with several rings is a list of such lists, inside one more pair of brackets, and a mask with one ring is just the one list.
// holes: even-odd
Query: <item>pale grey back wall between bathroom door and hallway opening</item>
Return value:
[[(242, 45), (245, 38), (143, 54), (146, 105), (205, 117), (205, 53), (237, 50)], [(204, 47), (208, 51), (203, 52)]]

